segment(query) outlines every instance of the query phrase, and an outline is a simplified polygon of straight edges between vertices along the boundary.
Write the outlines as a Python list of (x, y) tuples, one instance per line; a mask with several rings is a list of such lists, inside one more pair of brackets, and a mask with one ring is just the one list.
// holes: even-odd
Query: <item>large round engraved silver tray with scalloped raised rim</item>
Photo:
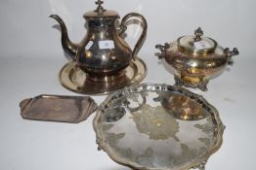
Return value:
[(204, 169), (225, 129), (202, 96), (171, 85), (133, 85), (109, 95), (94, 119), (99, 150), (137, 170)]

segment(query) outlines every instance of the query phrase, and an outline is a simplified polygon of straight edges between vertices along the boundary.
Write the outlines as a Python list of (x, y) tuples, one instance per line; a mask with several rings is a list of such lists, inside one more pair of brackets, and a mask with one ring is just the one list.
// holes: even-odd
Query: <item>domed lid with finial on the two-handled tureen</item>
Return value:
[(179, 50), (189, 54), (208, 54), (215, 51), (217, 42), (203, 36), (201, 28), (194, 31), (194, 35), (180, 37), (178, 40)]

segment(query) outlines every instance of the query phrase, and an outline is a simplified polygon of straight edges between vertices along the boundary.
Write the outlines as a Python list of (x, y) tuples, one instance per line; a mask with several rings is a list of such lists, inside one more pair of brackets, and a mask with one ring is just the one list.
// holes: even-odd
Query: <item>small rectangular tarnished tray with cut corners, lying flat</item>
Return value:
[(97, 104), (91, 97), (43, 94), (21, 101), (23, 119), (78, 123), (87, 119)]

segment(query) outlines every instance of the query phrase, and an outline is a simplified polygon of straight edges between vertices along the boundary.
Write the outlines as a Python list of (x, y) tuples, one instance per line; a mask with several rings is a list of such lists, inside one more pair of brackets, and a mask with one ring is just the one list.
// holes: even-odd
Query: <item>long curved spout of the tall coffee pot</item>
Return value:
[(62, 45), (63, 45), (64, 51), (67, 52), (72, 57), (73, 60), (75, 60), (75, 55), (78, 51), (78, 45), (72, 43), (69, 40), (66, 26), (64, 24), (64, 20), (58, 15), (51, 15), (50, 17), (56, 19), (59, 22), (62, 28)]

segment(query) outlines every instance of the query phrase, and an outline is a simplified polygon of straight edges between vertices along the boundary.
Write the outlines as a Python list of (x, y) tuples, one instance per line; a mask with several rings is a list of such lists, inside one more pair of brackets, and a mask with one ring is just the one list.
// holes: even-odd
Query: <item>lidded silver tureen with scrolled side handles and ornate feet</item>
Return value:
[(155, 48), (161, 51), (159, 59), (164, 58), (174, 68), (176, 85), (203, 91), (207, 90), (209, 80), (222, 74), (227, 65), (233, 64), (232, 57), (239, 53), (236, 48), (224, 49), (215, 40), (204, 37), (201, 28), (194, 35)]

